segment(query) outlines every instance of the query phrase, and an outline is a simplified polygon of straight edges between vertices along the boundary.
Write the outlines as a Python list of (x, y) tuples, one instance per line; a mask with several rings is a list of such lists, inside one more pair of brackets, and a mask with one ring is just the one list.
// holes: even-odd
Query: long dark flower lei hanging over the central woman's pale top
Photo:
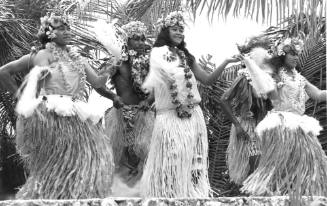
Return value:
[[(184, 78), (186, 80), (186, 88), (188, 89), (188, 94), (187, 94), (187, 100), (186, 100), (187, 103), (182, 104), (181, 100), (179, 100), (179, 98), (178, 98), (178, 89), (177, 89), (176, 79), (172, 79), (171, 84), (169, 86), (170, 96), (172, 97), (171, 102), (174, 105), (176, 105), (176, 113), (179, 118), (181, 118), (181, 119), (191, 118), (193, 108), (194, 108), (194, 103), (193, 103), (194, 95), (192, 93), (193, 84), (191, 82), (191, 78), (192, 78), (193, 74), (190, 69), (190, 66), (187, 63), (187, 58), (186, 58), (184, 51), (182, 51), (180, 49), (176, 49), (176, 53), (181, 59), (179, 67), (184, 68)], [(173, 54), (173, 52), (170, 52), (169, 55), (165, 56), (165, 59), (168, 62), (172, 62), (177, 59), (177, 56), (175, 56)]]

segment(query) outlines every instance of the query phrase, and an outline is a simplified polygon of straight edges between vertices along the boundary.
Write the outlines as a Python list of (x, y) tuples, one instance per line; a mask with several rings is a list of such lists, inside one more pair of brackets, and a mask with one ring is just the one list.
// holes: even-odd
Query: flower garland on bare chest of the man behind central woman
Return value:
[(142, 84), (149, 73), (149, 53), (138, 55), (135, 50), (129, 50), (128, 54), (134, 91), (138, 97), (146, 99), (149, 94), (142, 89)]

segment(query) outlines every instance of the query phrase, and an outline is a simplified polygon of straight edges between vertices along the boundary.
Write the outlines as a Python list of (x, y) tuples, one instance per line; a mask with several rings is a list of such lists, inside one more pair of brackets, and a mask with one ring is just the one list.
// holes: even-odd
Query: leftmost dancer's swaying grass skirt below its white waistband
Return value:
[(17, 121), (17, 148), (29, 177), (18, 199), (104, 198), (114, 170), (109, 138), (77, 116), (47, 112), (41, 103)]

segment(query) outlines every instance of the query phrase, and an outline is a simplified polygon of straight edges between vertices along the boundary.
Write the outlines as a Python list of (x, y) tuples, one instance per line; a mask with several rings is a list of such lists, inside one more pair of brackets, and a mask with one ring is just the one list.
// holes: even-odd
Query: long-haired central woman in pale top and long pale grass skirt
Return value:
[(145, 197), (205, 198), (208, 180), (208, 137), (196, 80), (212, 84), (228, 63), (212, 74), (202, 70), (185, 48), (185, 21), (173, 12), (159, 21), (160, 33), (150, 55), (143, 88), (154, 91), (156, 119), (141, 180)]

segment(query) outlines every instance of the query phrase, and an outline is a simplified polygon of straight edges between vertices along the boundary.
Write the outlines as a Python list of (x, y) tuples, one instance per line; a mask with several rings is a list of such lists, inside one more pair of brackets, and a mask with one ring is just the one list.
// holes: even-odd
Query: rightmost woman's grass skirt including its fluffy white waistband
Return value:
[(262, 155), (242, 191), (254, 195), (327, 195), (327, 157), (319, 122), (306, 115), (270, 112), (257, 126)]

